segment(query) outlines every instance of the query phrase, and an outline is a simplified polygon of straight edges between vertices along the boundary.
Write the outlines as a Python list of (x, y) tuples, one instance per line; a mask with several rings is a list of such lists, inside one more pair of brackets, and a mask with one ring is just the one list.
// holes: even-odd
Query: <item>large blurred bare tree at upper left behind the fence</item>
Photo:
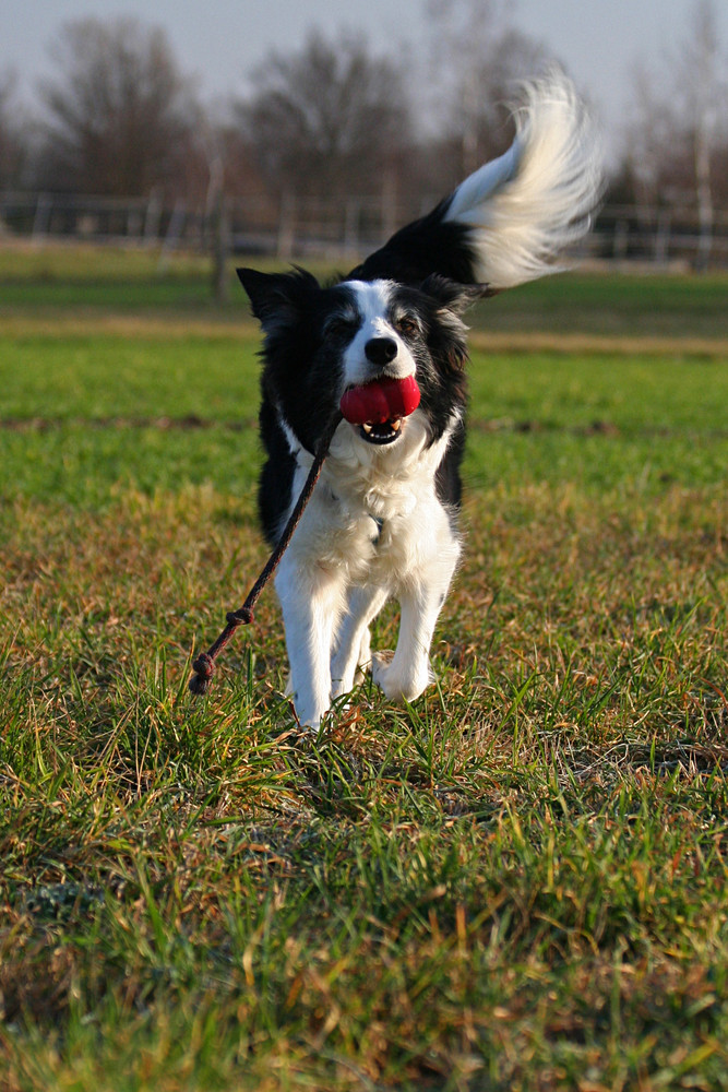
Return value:
[(84, 19), (65, 24), (53, 59), (60, 74), (40, 85), (52, 187), (118, 195), (175, 188), (199, 107), (164, 32)]

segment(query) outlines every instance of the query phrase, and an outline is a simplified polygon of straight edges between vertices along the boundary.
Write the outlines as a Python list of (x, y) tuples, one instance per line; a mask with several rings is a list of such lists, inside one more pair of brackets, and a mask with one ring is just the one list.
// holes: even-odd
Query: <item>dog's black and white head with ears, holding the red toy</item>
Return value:
[[(313, 451), (342, 395), (379, 379), (414, 376), (430, 442), (465, 401), (464, 310), (486, 289), (433, 275), (418, 287), (343, 281), (322, 287), (302, 270), (238, 270), (265, 334), (264, 394)], [(348, 426), (362, 443), (396, 446), (407, 419)]]

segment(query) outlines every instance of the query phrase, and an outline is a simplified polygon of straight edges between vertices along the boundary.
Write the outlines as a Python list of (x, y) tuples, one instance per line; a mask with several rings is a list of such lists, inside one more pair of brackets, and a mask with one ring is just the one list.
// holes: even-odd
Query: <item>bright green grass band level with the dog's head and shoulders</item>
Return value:
[[(25, 334), (0, 358), (0, 496), (83, 507), (134, 488), (253, 488), (258, 341)], [(564, 475), (590, 490), (720, 485), (728, 455), (720, 358), (474, 353), (474, 487)], [(659, 441), (659, 442), (658, 442)], [(666, 442), (667, 441), (667, 442)]]

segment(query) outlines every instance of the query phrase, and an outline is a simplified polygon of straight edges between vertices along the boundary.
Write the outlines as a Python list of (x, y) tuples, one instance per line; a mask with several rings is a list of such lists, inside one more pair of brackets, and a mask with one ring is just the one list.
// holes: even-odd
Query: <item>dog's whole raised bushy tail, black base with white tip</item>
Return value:
[(440, 273), (511, 288), (559, 269), (558, 256), (592, 226), (604, 189), (600, 144), (571, 81), (552, 70), (524, 85), (516, 135), (421, 219), (350, 274), (417, 283)]

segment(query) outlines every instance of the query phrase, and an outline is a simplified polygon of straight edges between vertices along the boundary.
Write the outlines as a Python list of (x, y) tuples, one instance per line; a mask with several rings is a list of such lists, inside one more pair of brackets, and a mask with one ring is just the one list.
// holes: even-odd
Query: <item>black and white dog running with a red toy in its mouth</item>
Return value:
[[(430, 642), (461, 554), (462, 314), (489, 292), (551, 271), (588, 230), (601, 193), (598, 142), (565, 76), (529, 84), (515, 122), (504, 155), (345, 280), (320, 286), (302, 271), (238, 271), (265, 335), (259, 501), (271, 543), (345, 392), (410, 377), (419, 388), (406, 416), (342, 420), (278, 568), (301, 724), (318, 726), (370, 667), (393, 700), (411, 701), (430, 681)], [(396, 651), (372, 654), (369, 627), (391, 597), (401, 607)]]

